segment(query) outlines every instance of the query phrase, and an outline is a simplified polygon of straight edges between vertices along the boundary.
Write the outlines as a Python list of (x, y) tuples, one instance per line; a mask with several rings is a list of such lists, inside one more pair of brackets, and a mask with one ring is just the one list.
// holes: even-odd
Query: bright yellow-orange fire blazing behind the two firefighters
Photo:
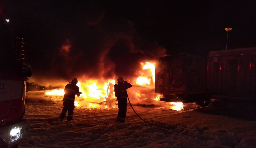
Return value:
[[(132, 82), (133, 87), (127, 90), (129, 99), (133, 105), (155, 105), (155, 106), (167, 106), (173, 110), (183, 110), (182, 103), (171, 102), (170, 104), (165, 104), (164, 102), (159, 102), (160, 94), (155, 94), (154, 91), (154, 63), (141, 62), (141, 70), (138, 70), (138, 77), (130, 78), (129, 81)], [(86, 108), (115, 108), (116, 97), (114, 95), (114, 79), (108, 80), (84, 80), (79, 78), (77, 86), (82, 92), (80, 97), (75, 98), (76, 107), (86, 107)], [(111, 85), (112, 84), (112, 85)], [(44, 91), (44, 97), (62, 100), (64, 95), (64, 88), (58, 85), (58, 89), (51, 89), (54, 87), (39, 87)], [(111, 88), (112, 87), (112, 88)]]

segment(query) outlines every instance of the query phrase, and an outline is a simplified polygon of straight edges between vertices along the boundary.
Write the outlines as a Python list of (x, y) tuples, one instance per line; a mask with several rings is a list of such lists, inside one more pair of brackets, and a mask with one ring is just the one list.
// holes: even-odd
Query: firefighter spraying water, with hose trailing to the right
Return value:
[(122, 77), (117, 79), (117, 83), (114, 85), (115, 96), (118, 101), (118, 115), (117, 122), (124, 123), (127, 109), (127, 88), (130, 88), (132, 85), (127, 81), (124, 81)]

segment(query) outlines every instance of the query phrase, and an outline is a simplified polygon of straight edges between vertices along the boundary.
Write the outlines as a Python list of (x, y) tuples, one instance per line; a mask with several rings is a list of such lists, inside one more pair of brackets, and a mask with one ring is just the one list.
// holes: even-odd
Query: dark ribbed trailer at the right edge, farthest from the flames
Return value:
[(207, 96), (211, 105), (255, 106), (256, 48), (211, 51), (207, 56)]

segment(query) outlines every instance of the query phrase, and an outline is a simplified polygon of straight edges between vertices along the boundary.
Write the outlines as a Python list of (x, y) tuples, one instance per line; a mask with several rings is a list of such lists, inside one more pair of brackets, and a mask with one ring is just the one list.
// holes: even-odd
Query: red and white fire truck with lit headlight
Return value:
[(24, 39), (8, 20), (1, 19), (0, 36), (0, 147), (18, 147), (30, 129), (22, 118), (32, 66), (25, 62)]

